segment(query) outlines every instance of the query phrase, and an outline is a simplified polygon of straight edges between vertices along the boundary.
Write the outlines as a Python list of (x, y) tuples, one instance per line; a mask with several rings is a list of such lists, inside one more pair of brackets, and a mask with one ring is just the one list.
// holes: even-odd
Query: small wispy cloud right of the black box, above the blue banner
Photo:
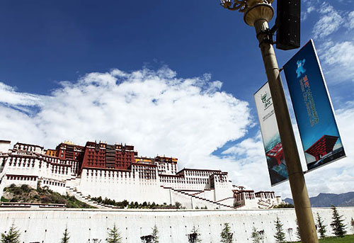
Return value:
[(343, 18), (333, 6), (324, 2), (319, 8), (321, 18), (314, 25), (314, 38), (325, 38), (334, 33), (343, 23)]

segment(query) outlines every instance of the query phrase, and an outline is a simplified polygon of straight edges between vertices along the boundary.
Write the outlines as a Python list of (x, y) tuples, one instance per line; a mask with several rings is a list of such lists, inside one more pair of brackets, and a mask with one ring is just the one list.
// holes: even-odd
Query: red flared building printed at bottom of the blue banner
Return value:
[(336, 136), (324, 135), (305, 152), (307, 152), (307, 154), (311, 154), (317, 161), (321, 159), (321, 157), (324, 157), (326, 154), (333, 151), (333, 147), (337, 140), (338, 137)]

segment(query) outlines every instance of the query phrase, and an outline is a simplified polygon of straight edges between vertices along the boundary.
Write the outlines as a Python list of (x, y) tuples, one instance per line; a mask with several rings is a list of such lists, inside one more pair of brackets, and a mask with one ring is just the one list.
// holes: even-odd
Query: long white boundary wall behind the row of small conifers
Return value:
[[(353, 234), (350, 219), (354, 217), (354, 208), (337, 208), (348, 225), (348, 234)], [(332, 210), (313, 208), (330, 227)], [(275, 239), (274, 220), (280, 218), (287, 240), (287, 229), (292, 228), (292, 240), (296, 239), (295, 211), (284, 210), (84, 210), (84, 209), (16, 209), (0, 208), (0, 232), (8, 231), (11, 224), (21, 230), (21, 242), (57, 243), (62, 238), (65, 227), (70, 232), (70, 242), (86, 243), (93, 239), (105, 242), (108, 227), (115, 223), (121, 232), (123, 241), (139, 243), (140, 237), (151, 234), (156, 225), (160, 242), (188, 242), (193, 226), (199, 228), (202, 242), (217, 243), (225, 222), (234, 232), (234, 242), (251, 242), (252, 227), (264, 230), (264, 242), (273, 243)], [(90, 241), (89, 241), (90, 239)], [(99, 241), (98, 241), (99, 242)]]

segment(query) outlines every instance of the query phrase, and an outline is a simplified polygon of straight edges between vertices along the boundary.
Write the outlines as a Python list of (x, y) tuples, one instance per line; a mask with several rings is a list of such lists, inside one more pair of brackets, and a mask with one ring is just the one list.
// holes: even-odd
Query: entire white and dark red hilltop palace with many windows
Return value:
[(182, 169), (172, 157), (138, 157), (131, 145), (62, 142), (55, 149), (0, 140), (0, 196), (6, 186), (47, 186), (105, 208), (90, 197), (116, 201), (181, 203), (185, 208), (267, 209), (281, 203), (272, 191), (232, 185), (227, 172)]

